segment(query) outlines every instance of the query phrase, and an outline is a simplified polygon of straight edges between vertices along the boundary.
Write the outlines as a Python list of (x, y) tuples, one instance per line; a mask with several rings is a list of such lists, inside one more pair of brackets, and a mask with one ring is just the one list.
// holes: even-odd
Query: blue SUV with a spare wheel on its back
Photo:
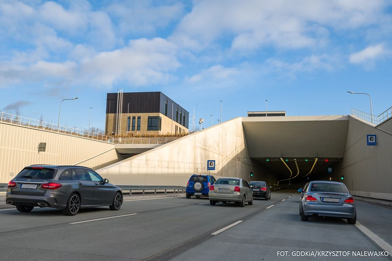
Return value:
[(211, 175), (192, 175), (187, 183), (187, 198), (207, 196), (209, 186), (215, 183), (216, 179)]

